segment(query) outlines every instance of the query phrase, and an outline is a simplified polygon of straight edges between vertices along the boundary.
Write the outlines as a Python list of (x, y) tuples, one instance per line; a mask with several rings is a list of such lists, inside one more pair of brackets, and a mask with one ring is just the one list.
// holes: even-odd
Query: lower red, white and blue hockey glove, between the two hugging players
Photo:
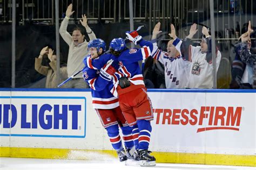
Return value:
[(107, 81), (111, 81), (111, 76), (118, 70), (118, 68), (119, 62), (111, 59), (100, 69), (100, 76)]

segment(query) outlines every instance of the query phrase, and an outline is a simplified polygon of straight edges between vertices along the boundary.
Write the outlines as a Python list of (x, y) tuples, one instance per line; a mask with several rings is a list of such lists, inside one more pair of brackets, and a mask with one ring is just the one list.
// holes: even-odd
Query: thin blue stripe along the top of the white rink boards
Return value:
[[(49, 89), (49, 88), (0, 88), (0, 91), (77, 91), (91, 92), (91, 89)], [(256, 89), (147, 89), (149, 92), (173, 93), (256, 93)]]

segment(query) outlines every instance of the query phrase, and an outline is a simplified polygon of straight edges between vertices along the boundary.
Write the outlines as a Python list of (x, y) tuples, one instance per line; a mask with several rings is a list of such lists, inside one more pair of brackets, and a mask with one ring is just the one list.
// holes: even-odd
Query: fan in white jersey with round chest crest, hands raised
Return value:
[[(186, 84), (186, 88), (213, 88), (212, 76), (212, 45), (211, 36), (207, 28), (204, 26), (202, 33), (205, 38), (200, 42), (200, 46), (192, 46), (191, 39), (197, 33), (197, 24), (193, 24), (190, 28), (190, 34), (184, 39), (181, 48), (184, 48), (183, 56), (191, 61), (190, 76)], [(183, 51), (183, 50), (181, 50)], [(216, 48), (216, 66), (217, 70), (220, 65), (221, 53)]]

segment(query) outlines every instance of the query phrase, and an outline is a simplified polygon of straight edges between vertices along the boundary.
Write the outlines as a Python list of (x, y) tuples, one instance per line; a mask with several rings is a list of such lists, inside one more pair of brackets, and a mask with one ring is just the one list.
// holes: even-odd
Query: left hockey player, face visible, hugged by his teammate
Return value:
[[(90, 41), (88, 49), (90, 54), (84, 59), (83, 77), (91, 88), (93, 108), (95, 108), (102, 125), (106, 129), (110, 142), (114, 150), (117, 151), (119, 160), (125, 161), (127, 157), (134, 159), (130, 152), (134, 146), (132, 128), (126, 123), (119, 107), (118, 98), (110, 93), (110, 89), (113, 87), (111, 76), (119, 68), (118, 61), (110, 60), (111, 54), (103, 54), (106, 45), (102, 39)], [(99, 58), (100, 55), (102, 56)], [(109, 62), (103, 63), (106, 60), (109, 60)], [(99, 70), (93, 67), (92, 63), (102, 69)], [(118, 125), (123, 133), (127, 153), (125, 153), (122, 146)]]

